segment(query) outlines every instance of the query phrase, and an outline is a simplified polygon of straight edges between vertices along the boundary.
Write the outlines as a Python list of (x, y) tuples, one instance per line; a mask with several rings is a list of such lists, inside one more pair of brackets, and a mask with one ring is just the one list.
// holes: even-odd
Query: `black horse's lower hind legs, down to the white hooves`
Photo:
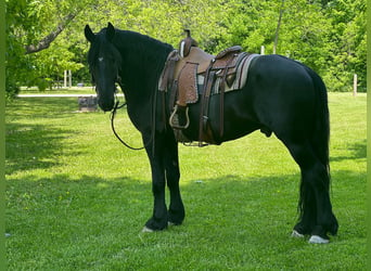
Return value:
[(337, 221), (330, 202), (327, 166), (316, 157), (309, 142), (285, 144), (302, 171), (300, 220), (294, 230), (303, 235), (311, 234), (310, 242), (327, 243), (328, 233), (337, 232)]

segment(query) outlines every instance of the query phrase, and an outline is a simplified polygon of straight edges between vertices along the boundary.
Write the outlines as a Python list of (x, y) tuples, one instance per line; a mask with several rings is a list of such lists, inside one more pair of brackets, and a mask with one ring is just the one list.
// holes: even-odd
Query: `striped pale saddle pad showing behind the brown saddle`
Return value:
[[(257, 56), (259, 56), (259, 54), (247, 54), (244, 55), (242, 60), (238, 61), (239, 64), (235, 69), (235, 79), (231, 86), (225, 83), (225, 92), (242, 89), (246, 85), (250, 64)], [(215, 80), (214, 87), (212, 89), (213, 94), (220, 93), (221, 80), (221, 77)]]

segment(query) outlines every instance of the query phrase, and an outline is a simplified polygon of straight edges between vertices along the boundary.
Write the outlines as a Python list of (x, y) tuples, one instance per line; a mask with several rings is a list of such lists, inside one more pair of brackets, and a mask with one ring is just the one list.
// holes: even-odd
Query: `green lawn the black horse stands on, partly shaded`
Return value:
[[(144, 151), (114, 138), (108, 114), (77, 99), (18, 99), (7, 107), (9, 270), (364, 270), (366, 95), (330, 93), (329, 245), (290, 237), (299, 170), (259, 132), (221, 146), (180, 145), (182, 225), (141, 233), (152, 214)], [(118, 132), (140, 146), (123, 111)]]

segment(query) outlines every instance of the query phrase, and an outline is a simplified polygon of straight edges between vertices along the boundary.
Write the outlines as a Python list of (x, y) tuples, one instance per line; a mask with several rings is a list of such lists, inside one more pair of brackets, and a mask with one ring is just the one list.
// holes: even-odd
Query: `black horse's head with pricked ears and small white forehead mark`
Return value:
[(85, 37), (90, 42), (89, 70), (95, 85), (98, 104), (104, 112), (113, 109), (116, 82), (120, 82), (121, 56), (113, 44), (115, 34), (116, 30), (111, 23), (97, 35), (89, 25), (85, 27)]

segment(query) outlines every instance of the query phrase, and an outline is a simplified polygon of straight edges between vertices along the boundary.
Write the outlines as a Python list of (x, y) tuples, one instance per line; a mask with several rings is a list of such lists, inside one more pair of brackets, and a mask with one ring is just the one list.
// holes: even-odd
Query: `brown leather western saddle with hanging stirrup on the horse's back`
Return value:
[[(239, 46), (228, 48), (216, 56), (197, 47), (197, 42), (186, 29), (187, 37), (180, 41), (179, 50), (169, 53), (158, 81), (159, 91), (170, 91), (169, 124), (176, 134), (190, 125), (188, 104), (201, 96), (200, 145), (216, 143), (208, 126), (208, 102), (212, 94), (220, 95), (220, 137), (223, 134), (223, 94), (241, 89), (246, 81), (250, 62), (256, 54), (241, 52)], [(183, 138), (183, 137), (182, 137)], [(184, 141), (184, 138), (183, 140)]]

